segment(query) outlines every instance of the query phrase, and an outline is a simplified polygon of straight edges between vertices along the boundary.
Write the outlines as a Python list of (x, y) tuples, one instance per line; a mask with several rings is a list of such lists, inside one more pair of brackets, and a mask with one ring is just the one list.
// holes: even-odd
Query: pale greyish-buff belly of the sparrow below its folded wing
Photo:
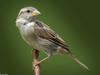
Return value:
[(24, 34), (22, 32), (21, 35), (23, 39), (34, 49), (43, 50), (46, 53), (53, 53), (56, 50), (57, 46), (55, 44), (46, 39), (40, 38), (30, 30), (25, 30)]

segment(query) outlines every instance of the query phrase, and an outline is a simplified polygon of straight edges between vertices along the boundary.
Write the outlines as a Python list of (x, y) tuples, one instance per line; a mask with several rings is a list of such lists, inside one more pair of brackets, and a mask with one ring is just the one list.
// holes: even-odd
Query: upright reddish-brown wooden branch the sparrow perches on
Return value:
[(32, 56), (33, 56), (32, 67), (33, 67), (34, 73), (35, 75), (40, 75), (40, 64), (36, 65), (36, 63), (39, 62), (38, 60), (39, 51), (32, 50)]

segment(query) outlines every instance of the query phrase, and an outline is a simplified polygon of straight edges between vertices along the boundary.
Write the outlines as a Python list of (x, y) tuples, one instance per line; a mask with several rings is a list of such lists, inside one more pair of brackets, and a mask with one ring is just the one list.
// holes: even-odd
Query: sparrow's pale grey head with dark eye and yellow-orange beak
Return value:
[(20, 10), (17, 18), (29, 19), (39, 14), (40, 12), (34, 7), (24, 7)]

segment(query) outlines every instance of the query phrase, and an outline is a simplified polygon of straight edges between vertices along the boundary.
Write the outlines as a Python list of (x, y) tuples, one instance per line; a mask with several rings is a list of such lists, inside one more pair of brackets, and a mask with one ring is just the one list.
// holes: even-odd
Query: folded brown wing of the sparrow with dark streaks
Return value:
[(34, 31), (35, 31), (35, 34), (38, 35), (39, 37), (41, 37), (43, 39), (47, 39), (47, 40), (55, 43), (56, 45), (66, 49), (66, 50), (69, 50), (68, 46), (65, 44), (64, 40), (43, 22), (36, 21), (36, 23), (34, 25)]

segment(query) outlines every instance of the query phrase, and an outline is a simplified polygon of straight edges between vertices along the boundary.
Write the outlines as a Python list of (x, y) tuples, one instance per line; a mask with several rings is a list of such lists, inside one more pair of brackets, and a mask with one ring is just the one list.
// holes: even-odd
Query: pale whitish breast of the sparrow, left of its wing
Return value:
[(23, 25), (20, 29), (20, 33), (22, 38), (29, 44), (29, 45), (36, 45), (35, 41), (37, 40), (37, 36), (34, 33), (34, 22), (27, 23)]

